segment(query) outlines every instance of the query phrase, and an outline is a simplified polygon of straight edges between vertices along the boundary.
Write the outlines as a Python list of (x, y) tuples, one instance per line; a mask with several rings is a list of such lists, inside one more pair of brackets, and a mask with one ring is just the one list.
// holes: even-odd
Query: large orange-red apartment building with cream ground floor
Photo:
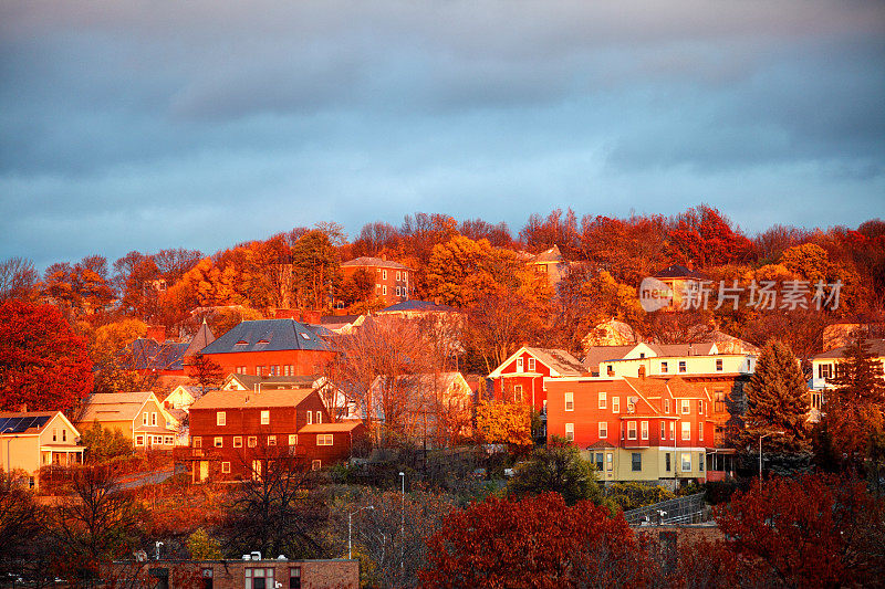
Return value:
[(549, 379), (548, 437), (584, 450), (603, 481), (670, 481), (721, 475), (711, 398), (680, 377)]

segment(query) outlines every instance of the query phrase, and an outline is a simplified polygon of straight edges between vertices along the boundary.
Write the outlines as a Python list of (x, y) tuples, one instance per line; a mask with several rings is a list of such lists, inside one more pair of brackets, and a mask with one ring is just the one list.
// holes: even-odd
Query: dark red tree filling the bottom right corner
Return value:
[(861, 587), (885, 578), (884, 514), (863, 482), (805, 475), (738, 494), (718, 522), (760, 578), (784, 587)]

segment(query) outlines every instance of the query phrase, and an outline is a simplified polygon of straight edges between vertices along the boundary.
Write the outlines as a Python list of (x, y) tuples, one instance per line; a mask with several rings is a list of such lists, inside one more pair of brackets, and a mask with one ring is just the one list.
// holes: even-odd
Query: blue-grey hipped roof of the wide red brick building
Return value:
[(242, 322), (202, 349), (202, 354), (241, 351), (329, 350), (329, 345), (294, 319)]

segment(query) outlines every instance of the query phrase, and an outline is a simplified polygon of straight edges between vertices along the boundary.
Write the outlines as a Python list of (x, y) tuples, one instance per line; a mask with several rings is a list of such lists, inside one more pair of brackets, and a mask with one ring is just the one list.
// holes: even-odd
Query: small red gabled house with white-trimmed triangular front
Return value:
[(489, 374), (494, 398), (531, 403), (541, 413), (546, 406), (550, 378), (586, 375), (581, 360), (563, 349), (522, 347)]

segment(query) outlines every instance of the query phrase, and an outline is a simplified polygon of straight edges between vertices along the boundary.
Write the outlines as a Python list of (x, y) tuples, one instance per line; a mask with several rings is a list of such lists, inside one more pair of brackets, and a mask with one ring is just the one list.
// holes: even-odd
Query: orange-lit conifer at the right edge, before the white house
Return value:
[(885, 380), (882, 362), (870, 353), (863, 335), (845, 347), (843, 356), (831, 380), (833, 389), (826, 391), (825, 419), (836, 454), (857, 463), (871, 457), (882, 437)]

